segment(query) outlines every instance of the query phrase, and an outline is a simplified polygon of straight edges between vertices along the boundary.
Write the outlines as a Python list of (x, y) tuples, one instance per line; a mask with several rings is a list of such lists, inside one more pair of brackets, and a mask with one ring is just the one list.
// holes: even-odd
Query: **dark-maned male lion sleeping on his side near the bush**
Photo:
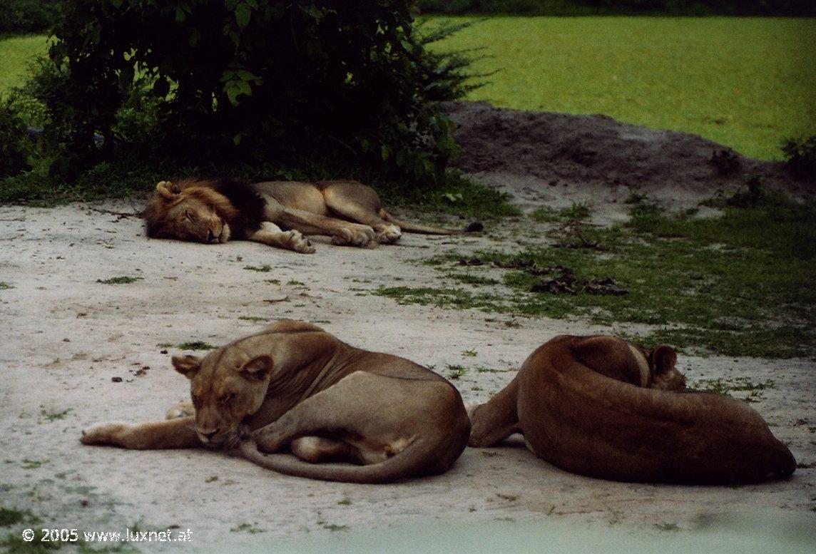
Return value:
[(255, 241), (304, 254), (314, 252), (304, 235), (328, 235), (336, 245), (366, 246), (375, 239), (397, 242), (402, 231), (452, 235), (482, 228), (478, 222), (461, 231), (405, 223), (382, 208), (374, 189), (357, 181), (162, 181), (144, 220), (151, 238)]

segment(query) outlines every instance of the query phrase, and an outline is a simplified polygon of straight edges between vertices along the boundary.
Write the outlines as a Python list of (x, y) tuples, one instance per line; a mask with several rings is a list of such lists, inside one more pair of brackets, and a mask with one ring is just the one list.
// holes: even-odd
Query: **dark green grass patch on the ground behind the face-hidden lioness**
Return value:
[[(596, 228), (597, 248), (536, 247), (483, 251), (463, 260), (475, 275), (503, 268), (503, 286), (474, 292), (445, 281), (437, 287), (379, 287), (399, 304), (477, 308), (527, 317), (587, 317), (596, 324), (628, 321), (658, 326), (645, 343), (752, 357), (816, 353), (816, 203), (766, 199), (726, 207), (715, 219), (667, 215), (636, 204), (629, 224)], [(456, 256), (432, 260), (450, 273)], [(481, 266), (477, 265), (481, 264)], [(577, 282), (601, 284), (531, 292), (570, 268)], [(610, 294), (605, 294), (610, 290)], [(623, 291), (626, 294), (617, 294)], [(595, 292), (595, 294), (588, 294)]]

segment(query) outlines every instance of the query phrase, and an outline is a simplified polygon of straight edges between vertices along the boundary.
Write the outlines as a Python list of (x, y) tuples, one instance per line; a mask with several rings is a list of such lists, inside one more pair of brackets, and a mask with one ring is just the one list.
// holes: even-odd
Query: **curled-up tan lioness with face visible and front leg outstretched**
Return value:
[[(203, 359), (173, 357), (173, 366), (190, 379), (186, 411), (194, 416), (171, 410), (176, 419), (106, 423), (83, 432), (82, 443), (238, 446), (246, 459), (287, 475), (385, 483), (446, 472), (468, 441), (462, 397), (446, 379), (308, 323), (278, 321)], [(259, 452), (284, 447), (297, 458)]]

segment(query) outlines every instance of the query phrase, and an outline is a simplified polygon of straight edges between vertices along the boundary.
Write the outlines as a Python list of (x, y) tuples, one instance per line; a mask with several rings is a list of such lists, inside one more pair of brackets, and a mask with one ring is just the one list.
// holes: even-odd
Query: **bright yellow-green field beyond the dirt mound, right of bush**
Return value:
[(816, 133), (816, 20), (496, 17), (442, 49), (485, 47), (499, 69), (471, 100), (686, 131), (760, 159)]

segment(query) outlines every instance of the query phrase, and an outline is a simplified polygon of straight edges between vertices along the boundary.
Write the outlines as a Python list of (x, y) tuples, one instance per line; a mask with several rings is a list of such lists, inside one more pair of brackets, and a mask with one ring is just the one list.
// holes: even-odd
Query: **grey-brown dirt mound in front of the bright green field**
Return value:
[[(813, 182), (795, 179), (782, 162), (742, 157), (697, 135), (602, 115), (526, 112), (484, 102), (450, 103), (446, 110), (459, 126), (462, 153), (454, 165), (534, 202), (565, 195), (575, 200), (581, 193), (620, 202), (636, 190), (679, 207), (717, 190), (734, 190), (747, 175), (760, 175), (766, 188), (799, 197), (816, 190)], [(564, 188), (580, 191), (559, 192)]]

